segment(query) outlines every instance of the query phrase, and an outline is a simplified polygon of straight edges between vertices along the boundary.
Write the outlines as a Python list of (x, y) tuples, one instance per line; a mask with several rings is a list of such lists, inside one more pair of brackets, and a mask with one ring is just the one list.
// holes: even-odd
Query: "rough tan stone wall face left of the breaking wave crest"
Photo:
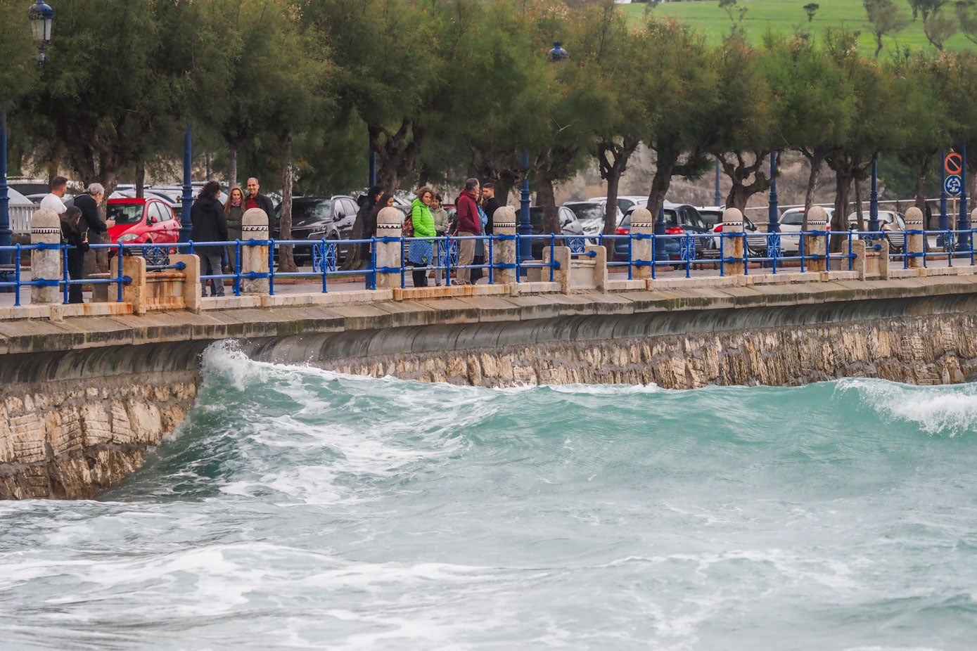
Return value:
[(0, 499), (90, 498), (143, 464), (187, 416), (197, 373), (19, 387), (0, 401)]

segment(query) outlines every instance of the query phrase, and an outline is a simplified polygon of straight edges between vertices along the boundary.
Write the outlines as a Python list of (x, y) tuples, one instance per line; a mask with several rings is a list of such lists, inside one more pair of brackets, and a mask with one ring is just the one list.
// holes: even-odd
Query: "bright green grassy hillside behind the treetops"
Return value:
[[(871, 25), (866, 18), (865, 8), (861, 0), (817, 0), (821, 7), (808, 22), (804, 5), (811, 0), (740, 0), (738, 7), (745, 8), (743, 27), (750, 43), (759, 44), (764, 34), (789, 34), (794, 31), (810, 31), (819, 37), (828, 26), (845, 26), (852, 31), (861, 30), (859, 44), (862, 52), (871, 55), (875, 51), (875, 38), (871, 34)], [(912, 17), (909, 2), (897, 0), (897, 4), (906, 9)], [(718, 0), (695, 0), (686, 2), (664, 2), (658, 6), (646, 4), (624, 5), (635, 23), (643, 20), (647, 8), (658, 17), (673, 17), (681, 22), (695, 27), (705, 34), (711, 43), (718, 43), (724, 34), (728, 34), (732, 22), (726, 11), (719, 8)], [(951, 7), (944, 11), (953, 11)], [(734, 16), (737, 15), (734, 9)], [(903, 31), (895, 36), (887, 36), (882, 40), (883, 50), (879, 58), (894, 51), (898, 44), (901, 48), (909, 47), (913, 50), (929, 49), (933, 46), (926, 40), (922, 30), (922, 18), (910, 22)], [(950, 50), (977, 50), (975, 46), (960, 34), (947, 39), (944, 44)]]

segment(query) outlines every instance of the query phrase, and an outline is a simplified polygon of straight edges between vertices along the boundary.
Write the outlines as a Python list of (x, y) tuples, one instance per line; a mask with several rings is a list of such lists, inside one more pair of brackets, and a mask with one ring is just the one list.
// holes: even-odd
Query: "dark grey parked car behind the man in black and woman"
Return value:
[[(293, 240), (319, 240), (325, 238), (330, 241), (350, 239), (353, 224), (357, 220), (360, 206), (356, 199), (346, 194), (336, 194), (329, 197), (300, 196), (292, 198), (292, 231)], [(275, 208), (275, 221), (272, 224), (272, 237), (280, 239), (281, 204)], [(346, 255), (347, 246), (339, 247), (337, 256), (341, 260)], [(295, 245), (293, 254), (295, 264), (299, 266), (312, 260), (312, 245)]]

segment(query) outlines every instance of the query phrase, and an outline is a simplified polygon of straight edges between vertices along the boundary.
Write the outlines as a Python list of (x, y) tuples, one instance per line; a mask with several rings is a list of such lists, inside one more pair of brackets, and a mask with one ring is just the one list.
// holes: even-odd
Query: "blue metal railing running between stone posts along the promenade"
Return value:
[[(633, 277), (633, 271), (639, 267), (650, 267), (653, 278), (664, 270), (671, 269), (680, 271), (685, 277), (691, 277), (693, 271), (714, 270), (720, 276), (727, 275), (729, 264), (739, 264), (743, 266), (744, 273), (750, 273), (751, 265), (769, 268), (771, 273), (783, 271), (789, 264), (796, 264), (801, 271), (815, 261), (824, 261), (828, 268), (848, 269), (853, 268), (855, 259), (853, 242), (862, 239), (866, 242), (869, 249), (877, 250), (880, 242), (887, 240), (890, 245), (890, 258), (901, 260), (904, 268), (908, 268), (911, 260), (921, 261), (923, 266), (935, 264), (936, 262), (946, 262), (954, 264), (975, 263), (977, 252), (974, 249), (974, 236), (977, 228), (946, 230), (883, 230), (883, 231), (856, 231), (848, 230), (843, 232), (831, 232), (829, 230), (803, 231), (797, 233), (693, 233), (664, 234), (654, 233), (615, 233), (598, 234), (596, 236), (577, 236), (577, 235), (473, 235), (457, 237), (446, 235), (443, 237), (431, 238), (392, 238), (392, 237), (371, 237), (357, 240), (241, 240), (236, 239), (230, 242), (184, 242), (172, 244), (92, 244), (93, 250), (105, 249), (109, 257), (116, 256), (142, 256), (147, 260), (147, 268), (150, 271), (156, 270), (183, 270), (185, 264), (170, 263), (170, 256), (175, 253), (194, 253), (199, 252), (201, 247), (213, 248), (227, 247), (233, 255), (229, 254), (229, 260), (234, 260), (233, 269), (225, 272), (224, 269), (211, 270), (212, 272), (201, 274), (201, 283), (215, 281), (224, 283), (230, 279), (233, 287), (234, 296), (239, 296), (241, 286), (244, 281), (267, 279), (269, 291), (275, 294), (276, 281), (290, 278), (313, 279), (320, 281), (321, 292), (329, 291), (329, 280), (342, 277), (364, 277), (367, 289), (376, 289), (377, 273), (399, 273), (401, 275), (401, 286), (408, 285), (406, 279), (407, 270), (416, 269), (413, 264), (407, 262), (407, 251), (410, 243), (415, 240), (427, 240), (432, 243), (432, 255), (430, 264), (425, 267), (428, 273), (433, 272), (436, 277), (444, 279), (446, 284), (451, 283), (452, 275), (456, 275), (459, 269), (482, 269), (488, 277), (488, 283), (493, 284), (497, 280), (497, 272), (502, 269), (514, 269), (517, 281), (522, 281), (529, 270), (534, 268), (548, 269), (543, 272), (543, 278), (548, 278), (552, 282), (555, 272), (559, 269), (559, 262), (555, 260), (542, 261), (539, 259), (540, 253), (546, 248), (566, 245), (571, 250), (573, 258), (594, 257), (593, 251), (587, 251), (588, 245), (600, 245), (608, 248), (608, 267), (609, 270), (625, 271), (627, 278)], [(909, 245), (912, 236), (922, 236), (922, 251), (910, 253)], [(825, 254), (817, 254), (808, 251), (810, 238), (824, 238)], [(794, 247), (785, 249), (786, 243), (792, 244), (796, 238), (796, 250)], [(839, 251), (831, 253), (831, 243), (833, 238), (843, 238), (843, 242), (838, 247)], [(516, 250), (522, 245), (523, 240), (529, 239), (531, 250), (536, 254), (536, 258), (531, 261), (518, 261), (505, 264), (499, 261), (498, 245), (502, 241), (514, 241)], [(473, 261), (470, 264), (459, 264), (460, 244), (466, 240), (481, 241), (484, 260)], [(636, 256), (635, 244), (640, 241), (651, 240), (651, 255), (648, 260), (638, 259)], [(733, 242), (740, 240), (743, 246), (743, 253), (733, 256)], [(942, 250), (937, 247), (938, 241), (953, 243), (953, 246)], [(401, 247), (401, 260), (397, 267), (380, 267), (377, 264), (377, 248), (379, 244), (397, 243)], [(370, 253), (366, 261), (366, 267), (360, 269), (343, 269), (342, 262), (344, 256), (351, 252), (354, 247), (369, 245)], [(303, 257), (308, 257), (311, 261), (310, 268), (300, 268), (297, 271), (282, 271), (276, 260), (280, 247), (292, 245), (293, 249), (298, 249)], [(247, 247), (268, 246), (268, 271), (244, 272), (241, 269), (245, 258)], [(58, 248), (62, 258), (61, 277), (55, 279), (32, 279), (25, 278), (24, 263), (34, 252), (40, 250), (50, 250)], [(63, 294), (64, 302), (68, 300), (69, 288), (77, 285), (109, 285), (115, 289), (116, 301), (121, 302), (122, 290), (131, 279), (122, 273), (121, 265), (118, 265), (116, 272), (111, 277), (97, 277), (84, 279), (71, 279), (67, 272), (67, 255), (71, 249), (69, 245), (47, 245), (47, 244), (15, 244), (3, 247), (3, 252), (11, 254), (12, 264), (0, 267), (0, 292), (14, 294), (14, 305), (21, 305), (21, 292), (24, 288), (38, 286), (57, 285)], [(819, 246), (819, 250), (822, 249)], [(658, 255), (656, 255), (658, 252)], [(308, 255), (306, 255), (308, 254)], [(671, 276), (673, 277), (673, 276)]]

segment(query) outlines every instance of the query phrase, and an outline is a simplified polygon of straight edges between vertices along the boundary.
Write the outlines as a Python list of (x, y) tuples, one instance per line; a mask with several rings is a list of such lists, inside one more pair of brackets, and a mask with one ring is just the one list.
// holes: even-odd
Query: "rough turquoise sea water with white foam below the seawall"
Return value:
[(204, 376), (98, 501), (0, 503), (0, 648), (977, 646), (977, 385)]

